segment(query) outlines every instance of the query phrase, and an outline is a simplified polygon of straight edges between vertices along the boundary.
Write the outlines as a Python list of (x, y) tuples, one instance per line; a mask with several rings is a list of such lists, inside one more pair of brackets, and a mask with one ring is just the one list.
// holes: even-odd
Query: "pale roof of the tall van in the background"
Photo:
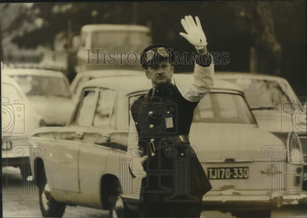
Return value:
[(99, 30), (116, 30), (116, 31), (142, 31), (149, 32), (150, 28), (141, 25), (122, 25), (122, 24), (89, 24), (81, 28), (82, 32), (91, 32)]

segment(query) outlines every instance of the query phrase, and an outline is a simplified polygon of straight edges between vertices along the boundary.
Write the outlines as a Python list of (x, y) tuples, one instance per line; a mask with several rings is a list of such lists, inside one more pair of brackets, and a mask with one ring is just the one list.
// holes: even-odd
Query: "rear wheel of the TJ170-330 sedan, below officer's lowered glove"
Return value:
[(109, 217), (138, 217), (138, 212), (130, 210), (122, 200), (118, 180), (113, 182), (109, 197), (117, 197), (115, 200), (109, 201)]

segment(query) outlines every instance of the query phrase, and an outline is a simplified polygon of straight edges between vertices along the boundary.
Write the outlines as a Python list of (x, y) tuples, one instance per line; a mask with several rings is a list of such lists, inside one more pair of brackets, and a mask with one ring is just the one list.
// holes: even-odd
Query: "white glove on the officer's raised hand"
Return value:
[(185, 37), (196, 49), (204, 48), (208, 43), (203, 29), (201, 28), (198, 17), (195, 17), (196, 24), (191, 15), (185, 16), (185, 19), (181, 19), (181, 24), (188, 34), (183, 32), (179, 33), (180, 36)]

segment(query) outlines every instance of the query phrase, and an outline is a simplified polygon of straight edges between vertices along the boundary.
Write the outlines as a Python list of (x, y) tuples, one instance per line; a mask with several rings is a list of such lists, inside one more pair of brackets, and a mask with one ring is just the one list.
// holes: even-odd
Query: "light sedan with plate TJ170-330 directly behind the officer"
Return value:
[[(191, 75), (174, 77), (181, 85), (192, 79)], [(141, 180), (132, 179), (128, 168), (128, 105), (147, 93), (150, 85), (144, 75), (87, 81), (66, 127), (33, 132), (33, 149), (42, 151), (35, 178), (40, 196), (47, 199), (40, 202), (43, 216), (63, 215), (66, 204), (109, 209), (110, 216), (128, 216), (137, 210)], [(213, 186), (203, 198), (204, 210), (236, 215), (239, 210), (257, 210), (267, 217), (274, 207), (301, 200), (300, 194), (292, 193), (287, 196), (295, 201), (276, 201), (276, 197), (288, 198), (271, 193), (272, 160), (267, 150), (280, 155), (287, 147), (258, 128), (239, 87), (215, 81), (214, 89), (195, 109), (190, 139)], [(113, 146), (116, 149), (110, 149)], [(298, 161), (293, 157), (284, 164), (294, 170)], [(287, 186), (278, 191), (295, 188), (295, 179), (287, 176)]]

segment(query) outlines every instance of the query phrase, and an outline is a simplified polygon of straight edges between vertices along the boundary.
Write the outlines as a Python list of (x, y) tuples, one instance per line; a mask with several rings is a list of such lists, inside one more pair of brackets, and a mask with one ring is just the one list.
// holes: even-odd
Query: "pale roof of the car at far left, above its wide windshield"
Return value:
[(55, 70), (45, 70), (45, 69), (31, 69), (31, 68), (10, 68), (3, 69), (2, 73), (8, 76), (14, 75), (33, 75), (33, 76), (46, 76), (46, 77), (60, 77), (65, 78), (64, 73)]

